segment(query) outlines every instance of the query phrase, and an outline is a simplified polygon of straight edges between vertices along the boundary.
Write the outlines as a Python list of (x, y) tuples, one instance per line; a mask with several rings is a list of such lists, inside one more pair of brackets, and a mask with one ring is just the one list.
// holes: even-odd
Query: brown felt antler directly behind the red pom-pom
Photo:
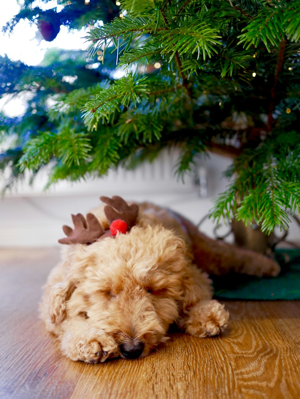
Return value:
[(109, 223), (117, 219), (122, 219), (127, 223), (129, 229), (135, 225), (137, 214), (139, 213), (139, 206), (136, 203), (128, 205), (119, 196), (113, 196), (113, 198), (100, 197), (100, 199), (107, 203), (104, 212)]

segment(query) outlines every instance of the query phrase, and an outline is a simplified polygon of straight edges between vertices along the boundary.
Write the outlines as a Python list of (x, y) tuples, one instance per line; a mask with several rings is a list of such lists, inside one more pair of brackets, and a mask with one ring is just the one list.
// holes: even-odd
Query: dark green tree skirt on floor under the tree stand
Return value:
[[(277, 277), (252, 277), (229, 273), (211, 276), (215, 298), (291, 300), (300, 299), (300, 250), (277, 249), (276, 261), (281, 266)], [(288, 255), (288, 256), (287, 256)], [(289, 257), (288, 263), (286, 259)]]

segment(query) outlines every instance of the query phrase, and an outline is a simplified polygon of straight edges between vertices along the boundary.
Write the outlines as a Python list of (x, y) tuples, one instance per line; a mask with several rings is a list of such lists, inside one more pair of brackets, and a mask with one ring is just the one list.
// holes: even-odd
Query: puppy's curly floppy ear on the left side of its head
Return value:
[(76, 286), (71, 280), (57, 282), (50, 288), (48, 316), (53, 324), (60, 324), (67, 316), (66, 303)]

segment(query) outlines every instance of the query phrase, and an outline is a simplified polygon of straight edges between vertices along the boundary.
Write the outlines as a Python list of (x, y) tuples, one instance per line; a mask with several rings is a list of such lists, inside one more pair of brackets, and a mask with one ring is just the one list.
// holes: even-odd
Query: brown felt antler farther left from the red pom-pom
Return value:
[(86, 220), (81, 213), (77, 213), (72, 215), (72, 220), (74, 229), (66, 225), (62, 227), (67, 237), (58, 240), (60, 244), (87, 244), (110, 235), (110, 230), (104, 231), (93, 213), (87, 213)]

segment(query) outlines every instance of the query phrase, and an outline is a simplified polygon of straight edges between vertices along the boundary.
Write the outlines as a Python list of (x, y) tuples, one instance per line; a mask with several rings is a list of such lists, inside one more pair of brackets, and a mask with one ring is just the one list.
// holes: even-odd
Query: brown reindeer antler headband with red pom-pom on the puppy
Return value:
[(113, 198), (100, 197), (101, 201), (107, 205), (104, 213), (110, 226), (109, 230), (104, 230), (99, 220), (93, 213), (87, 213), (86, 219), (81, 213), (72, 215), (74, 229), (64, 225), (63, 230), (67, 237), (58, 240), (60, 244), (91, 244), (101, 237), (114, 237), (117, 232), (125, 234), (135, 225), (139, 206), (136, 203), (128, 205), (123, 198), (113, 196)]

